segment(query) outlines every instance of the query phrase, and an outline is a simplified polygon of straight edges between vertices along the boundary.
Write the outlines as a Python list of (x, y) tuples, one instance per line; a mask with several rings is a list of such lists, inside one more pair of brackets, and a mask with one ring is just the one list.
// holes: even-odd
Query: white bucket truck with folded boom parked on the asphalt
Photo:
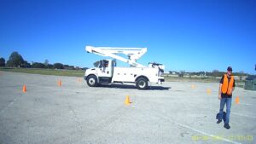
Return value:
[[(113, 48), (86, 46), (88, 53), (113, 58), (113, 60), (99, 60), (94, 68), (87, 69), (84, 79), (90, 87), (100, 84), (135, 83), (137, 89), (147, 89), (149, 83), (161, 84), (165, 81), (161, 74), (165, 66), (158, 63), (148, 63), (143, 66), (137, 60), (147, 52), (147, 48)], [(127, 58), (120, 55), (126, 55)], [(116, 66), (116, 60), (128, 63), (130, 67)]]

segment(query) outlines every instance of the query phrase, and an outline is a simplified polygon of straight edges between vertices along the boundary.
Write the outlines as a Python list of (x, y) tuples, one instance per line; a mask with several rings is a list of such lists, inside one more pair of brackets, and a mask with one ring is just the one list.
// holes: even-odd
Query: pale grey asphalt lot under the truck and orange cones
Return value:
[(256, 91), (242, 88), (230, 130), (216, 124), (218, 83), (90, 88), (75, 77), (0, 71), (0, 89), (1, 144), (256, 143)]

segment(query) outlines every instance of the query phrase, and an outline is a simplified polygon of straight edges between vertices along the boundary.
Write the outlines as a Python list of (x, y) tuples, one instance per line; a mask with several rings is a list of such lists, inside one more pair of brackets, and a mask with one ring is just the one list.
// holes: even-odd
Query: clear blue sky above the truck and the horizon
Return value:
[(0, 57), (91, 67), (102, 57), (85, 45), (147, 47), (143, 65), (255, 74), (255, 8), (255, 0), (1, 0)]

